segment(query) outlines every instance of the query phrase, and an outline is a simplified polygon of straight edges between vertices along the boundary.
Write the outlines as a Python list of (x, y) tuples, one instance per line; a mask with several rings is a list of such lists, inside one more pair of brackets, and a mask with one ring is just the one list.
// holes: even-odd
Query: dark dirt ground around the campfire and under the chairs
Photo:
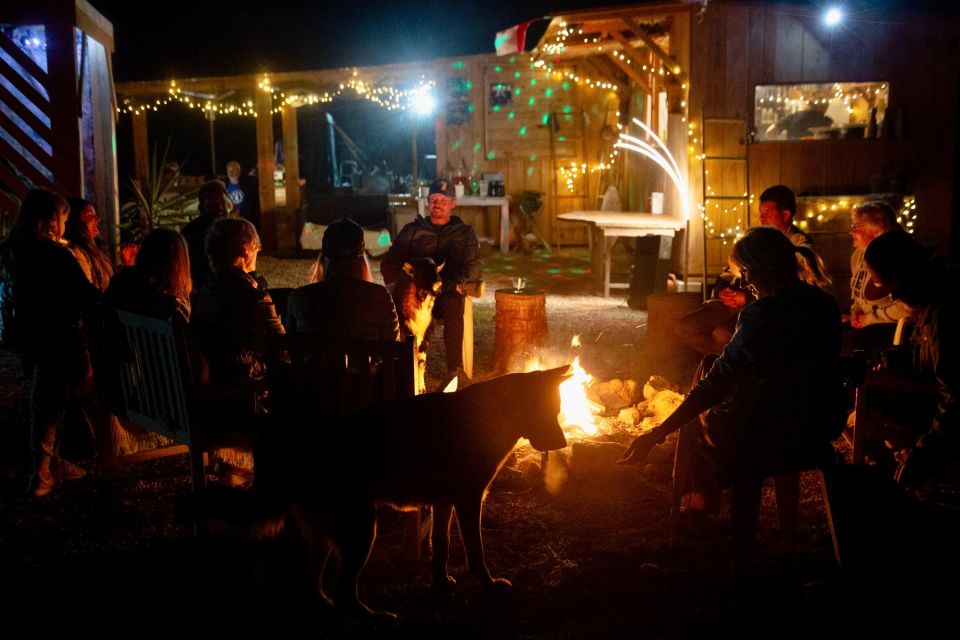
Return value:
[[(628, 256), (626, 256), (628, 258)], [(487, 292), (476, 304), (475, 378), (489, 377), (494, 291), (523, 275), (548, 292), (549, 341), (541, 355), (563, 360), (570, 338), (598, 380), (653, 373), (680, 387), (689, 362), (646, 357), (646, 313), (623, 298), (591, 295), (582, 249), (552, 256), (489, 256)], [(302, 284), (309, 259), (264, 258), (273, 286)], [(374, 262), (376, 267), (376, 262)], [(430, 381), (442, 377), (442, 347)], [(504, 410), (509, 410), (505, 407)], [(918, 501), (889, 490), (870, 470), (850, 473), (844, 516), (858, 514), (833, 559), (816, 473), (804, 474), (800, 530), (777, 531), (764, 497), (754, 570), (735, 576), (725, 512), (705, 535), (670, 544), (670, 442), (645, 468), (611, 465), (570, 477), (555, 493), (537, 481), (497, 487), (483, 534), (494, 575), (512, 592), (491, 598), (466, 570), (454, 536), (454, 594), (429, 589), (416, 561), (411, 514), (384, 510), (360, 593), (399, 615), (390, 629), (330, 613), (294, 567), (303, 551), (292, 532), (255, 539), (211, 525), (203, 535), (175, 516), (188, 492), (184, 456), (91, 474), (49, 498), (23, 497), (29, 384), (18, 360), (0, 354), (0, 599), (8, 637), (69, 631), (105, 637), (957, 637), (953, 576), (960, 533), (949, 495)], [(612, 418), (607, 418), (612, 420)], [(508, 490), (509, 489), (509, 490)], [(840, 507), (835, 506), (838, 517)], [(848, 520), (849, 521), (849, 520)], [(454, 527), (455, 528), (455, 527)]]

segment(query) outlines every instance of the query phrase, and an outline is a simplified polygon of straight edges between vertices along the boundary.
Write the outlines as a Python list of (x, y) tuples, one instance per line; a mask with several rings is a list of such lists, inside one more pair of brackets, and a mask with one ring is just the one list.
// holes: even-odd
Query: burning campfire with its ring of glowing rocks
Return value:
[[(565, 355), (541, 354), (524, 364), (525, 371), (539, 371), (570, 362), (580, 348), (580, 336), (573, 336)], [(527, 476), (542, 476), (548, 490), (559, 491), (572, 476), (607, 473), (625, 446), (673, 413), (683, 396), (666, 379), (652, 376), (644, 385), (634, 380), (595, 381), (576, 355), (570, 377), (560, 385), (558, 420), (567, 436), (568, 447), (541, 455), (530, 446), (515, 451), (514, 466)]]

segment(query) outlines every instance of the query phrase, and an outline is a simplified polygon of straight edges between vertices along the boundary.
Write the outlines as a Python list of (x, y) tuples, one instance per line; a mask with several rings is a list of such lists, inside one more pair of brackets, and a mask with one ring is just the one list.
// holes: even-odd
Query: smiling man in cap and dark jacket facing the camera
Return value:
[(449, 180), (436, 180), (430, 185), (427, 206), (430, 217), (417, 218), (397, 234), (383, 257), (380, 271), (390, 285), (401, 277), (404, 263), (417, 258), (443, 263), (443, 289), (434, 304), (433, 317), (443, 320), (447, 372), (454, 373), (463, 367), (464, 296), (479, 291), (483, 279), (480, 241), (473, 227), (450, 215), (457, 198)]

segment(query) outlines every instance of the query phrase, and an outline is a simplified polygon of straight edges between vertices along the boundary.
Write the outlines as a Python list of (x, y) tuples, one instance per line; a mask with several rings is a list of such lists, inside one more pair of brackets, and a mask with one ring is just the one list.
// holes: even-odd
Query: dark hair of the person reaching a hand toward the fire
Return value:
[(752, 227), (730, 251), (730, 263), (758, 288), (776, 290), (803, 280), (828, 286), (829, 276), (819, 257), (806, 247), (794, 246), (779, 229)]

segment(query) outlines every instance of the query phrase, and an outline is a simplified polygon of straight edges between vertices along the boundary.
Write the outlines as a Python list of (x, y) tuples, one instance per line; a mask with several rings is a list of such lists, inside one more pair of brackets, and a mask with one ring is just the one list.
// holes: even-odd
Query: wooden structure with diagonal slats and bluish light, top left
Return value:
[(92, 201), (116, 249), (113, 26), (86, 0), (0, 5), (0, 222), (34, 187)]

